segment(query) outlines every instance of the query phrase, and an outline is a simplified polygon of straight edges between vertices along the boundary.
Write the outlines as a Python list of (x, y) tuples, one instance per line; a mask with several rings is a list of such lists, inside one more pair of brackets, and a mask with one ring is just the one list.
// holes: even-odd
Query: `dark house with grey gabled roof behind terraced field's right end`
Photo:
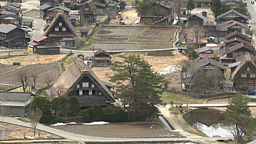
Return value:
[(195, 13), (188, 17), (188, 27), (202, 27), (205, 17), (201, 14)]

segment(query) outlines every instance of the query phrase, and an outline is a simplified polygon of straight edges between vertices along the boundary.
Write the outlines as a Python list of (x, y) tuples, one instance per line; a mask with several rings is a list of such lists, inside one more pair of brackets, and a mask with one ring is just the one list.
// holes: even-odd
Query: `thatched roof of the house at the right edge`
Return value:
[(254, 69), (256, 68), (256, 63), (254, 62), (254, 60), (252, 59), (251, 55), (248, 53), (247, 55), (245, 55), (244, 59), (240, 62), (240, 64), (236, 67), (236, 69), (234, 70), (234, 72), (231, 74), (231, 80), (234, 81), (236, 79), (236, 77), (241, 74), (242, 70), (244, 69), (244, 67), (247, 65), (247, 63), (250, 63), (251, 66), (254, 67)]

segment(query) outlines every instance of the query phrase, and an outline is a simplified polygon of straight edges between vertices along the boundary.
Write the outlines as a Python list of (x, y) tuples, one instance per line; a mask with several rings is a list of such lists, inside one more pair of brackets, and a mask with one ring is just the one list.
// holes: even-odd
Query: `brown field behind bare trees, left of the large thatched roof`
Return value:
[[(26, 71), (26, 73), (28, 74), (30, 74), (32, 71), (37, 73), (38, 78), (36, 79), (36, 86), (42, 86), (46, 84), (45, 76), (49, 76), (50, 78), (52, 78), (53, 82), (56, 81), (61, 75), (59, 65), (57, 64), (34, 65), (0, 75), (0, 83), (15, 86), (21, 85), (20, 82), (18, 82), (18, 74), (22, 73), (23, 71)], [(34, 82), (32, 81), (32, 79), (30, 79), (29, 85), (33, 85), (33, 83)]]

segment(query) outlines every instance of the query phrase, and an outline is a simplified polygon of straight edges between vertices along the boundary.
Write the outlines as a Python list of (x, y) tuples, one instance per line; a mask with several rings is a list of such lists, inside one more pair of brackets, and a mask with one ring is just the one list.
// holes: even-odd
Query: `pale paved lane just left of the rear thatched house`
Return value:
[(44, 34), (43, 28), (46, 25), (46, 21), (41, 20), (41, 19), (37, 19), (37, 18), (33, 18), (33, 17), (24, 17), (23, 16), (23, 18), (34, 20), (34, 29), (33, 29), (33, 32), (31, 34), (31, 38), (34, 38), (38, 35), (43, 35)]

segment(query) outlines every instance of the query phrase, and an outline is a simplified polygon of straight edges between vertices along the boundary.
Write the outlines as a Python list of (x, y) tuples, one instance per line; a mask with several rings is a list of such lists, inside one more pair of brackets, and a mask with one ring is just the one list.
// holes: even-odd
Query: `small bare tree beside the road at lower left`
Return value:
[(28, 118), (30, 119), (30, 123), (33, 126), (34, 130), (34, 137), (36, 135), (36, 126), (39, 123), (40, 118), (42, 117), (43, 113), (39, 108), (33, 109), (29, 111)]

